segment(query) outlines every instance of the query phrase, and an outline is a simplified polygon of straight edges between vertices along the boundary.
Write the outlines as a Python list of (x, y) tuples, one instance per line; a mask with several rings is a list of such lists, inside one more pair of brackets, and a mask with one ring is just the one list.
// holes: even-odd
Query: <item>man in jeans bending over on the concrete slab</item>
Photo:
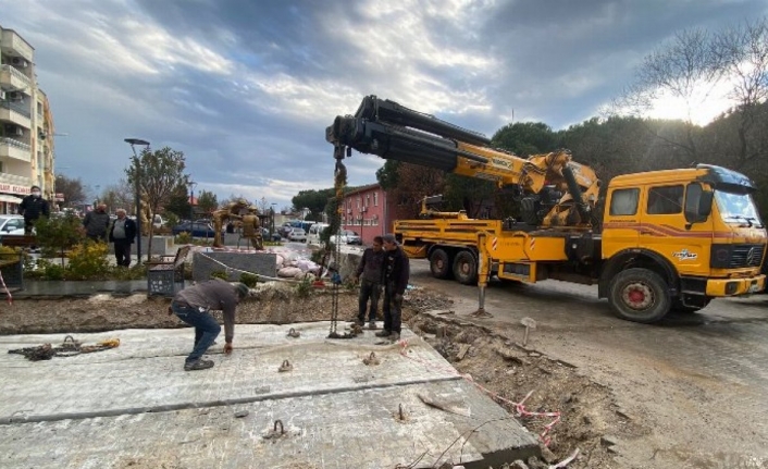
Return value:
[(195, 346), (184, 362), (185, 371), (206, 370), (213, 367), (212, 360), (203, 360), (202, 355), (221, 332), (221, 325), (210, 314), (210, 310), (224, 312), (224, 353), (232, 353), (235, 335), (235, 308), (248, 295), (249, 288), (243, 283), (231, 284), (221, 279), (209, 280), (184, 288), (176, 294), (169, 308), (182, 321), (195, 326)]

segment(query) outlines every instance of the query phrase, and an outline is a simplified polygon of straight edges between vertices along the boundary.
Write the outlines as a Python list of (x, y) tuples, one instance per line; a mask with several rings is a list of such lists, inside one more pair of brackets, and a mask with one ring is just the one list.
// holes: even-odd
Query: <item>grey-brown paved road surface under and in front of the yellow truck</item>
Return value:
[[(478, 308), (475, 286), (433, 279), (426, 261), (411, 261), (411, 282), (455, 297), (459, 317)], [(520, 320), (532, 318), (530, 348), (615, 391), (647, 430), (622, 445), (621, 467), (768, 467), (768, 295), (647, 325), (615, 317), (596, 286), (494, 282), (485, 309), (494, 317), (473, 321), (517, 342)]]

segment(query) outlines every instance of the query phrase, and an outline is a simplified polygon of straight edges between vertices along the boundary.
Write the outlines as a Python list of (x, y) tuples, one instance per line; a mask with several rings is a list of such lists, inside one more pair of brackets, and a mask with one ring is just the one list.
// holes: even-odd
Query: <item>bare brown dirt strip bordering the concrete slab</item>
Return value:
[[(168, 299), (148, 299), (145, 295), (17, 300), (0, 309), (0, 334), (184, 326), (175, 316), (168, 314), (169, 304)], [(237, 323), (327, 321), (331, 305), (332, 295), (326, 291), (298, 297), (290, 288), (262, 288), (240, 304)], [(342, 292), (338, 305), (339, 321), (354, 318), (357, 294)], [(519, 417), (529, 430), (537, 434), (546, 431), (544, 437), (550, 439), (548, 447), (541, 445), (544, 460), (531, 459), (525, 461), (528, 467), (547, 468), (571, 456), (575, 448), (580, 454), (569, 468), (618, 467), (611, 454), (612, 435), (639, 435), (646, 431), (615, 405), (608, 387), (592, 382), (569, 363), (530, 351), (498, 331), (461, 323), (450, 314), (425, 313), (450, 306), (449, 298), (428, 291), (411, 291), (406, 295), (404, 321), (510, 414), (518, 412), (520, 408), (513, 403), (521, 403), (529, 393), (523, 403), (525, 411), (560, 412), (560, 420), (548, 431), (546, 428), (555, 417)], [(339, 323), (339, 332), (344, 325)]]

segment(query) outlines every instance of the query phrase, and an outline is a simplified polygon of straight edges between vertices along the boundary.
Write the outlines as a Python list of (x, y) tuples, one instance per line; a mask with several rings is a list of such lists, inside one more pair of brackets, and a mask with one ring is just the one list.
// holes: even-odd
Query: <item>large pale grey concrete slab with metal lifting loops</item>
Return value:
[[(300, 337), (287, 337), (292, 326)], [(121, 346), (38, 362), (7, 350), (64, 334), (0, 337), (0, 466), (377, 468), (422, 457), (413, 467), (471, 468), (537, 453), (533, 435), (411, 332), (404, 356), (370, 331), (327, 340), (329, 328), (237, 325), (233, 355), (216, 345), (216, 366), (198, 372), (182, 368), (189, 329), (78, 334)], [(371, 351), (380, 365), (363, 363)], [(278, 372), (286, 359), (293, 371)], [(264, 439), (275, 420), (286, 434)]]

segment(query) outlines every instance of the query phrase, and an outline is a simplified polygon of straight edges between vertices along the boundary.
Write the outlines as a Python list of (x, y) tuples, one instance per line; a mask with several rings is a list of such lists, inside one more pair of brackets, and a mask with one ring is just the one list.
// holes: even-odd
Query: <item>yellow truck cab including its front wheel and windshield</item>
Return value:
[(611, 180), (599, 296), (624, 319), (654, 322), (764, 289), (767, 235), (754, 190), (742, 174), (706, 164)]

